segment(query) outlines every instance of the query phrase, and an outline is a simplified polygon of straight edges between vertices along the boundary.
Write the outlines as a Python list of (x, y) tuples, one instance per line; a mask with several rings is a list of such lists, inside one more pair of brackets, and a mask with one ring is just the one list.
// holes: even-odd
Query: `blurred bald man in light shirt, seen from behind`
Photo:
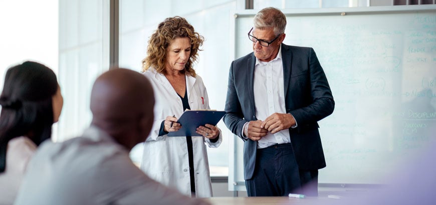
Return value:
[(150, 132), (153, 106), (144, 75), (124, 68), (100, 75), (91, 126), (81, 137), (41, 145), (16, 204), (206, 204), (152, 180), (130, 160)]

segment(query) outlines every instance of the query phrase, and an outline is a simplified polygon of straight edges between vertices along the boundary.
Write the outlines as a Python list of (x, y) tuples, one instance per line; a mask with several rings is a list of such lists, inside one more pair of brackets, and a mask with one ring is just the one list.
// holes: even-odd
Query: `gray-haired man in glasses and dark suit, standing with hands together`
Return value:
[(326, 75), (310, 47), (283, 44), (286, 16), (260, 10), (249, 31), (252, 53), (232, 62), (224, 116), (244, 140), (249, 196), (318, 194), (326, 166), (318, 131), (333, 112)]

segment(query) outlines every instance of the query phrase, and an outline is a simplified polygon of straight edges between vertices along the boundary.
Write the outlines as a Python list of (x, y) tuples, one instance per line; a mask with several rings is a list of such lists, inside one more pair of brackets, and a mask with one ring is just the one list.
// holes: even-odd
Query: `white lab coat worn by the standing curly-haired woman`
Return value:
[[(186, 137), (158, 136), (161, 122), (167, 116), (177, 118), (183, 113), (183, 104), (177, 92), (163, 74), (150, 69), (144, 72), (153, 85), (154, 107), (153, 128), (144, 143), (141, 169), (151, 178), (191, 195), (188, 151)], [(200, 76), (186, 75), (186, 91), (191, 109), (209, 109), (207, 91)], [(210, 142), (203, 136), (192, 137), (195, 191), (197, 197), (212, 196), (210, 172), (205, 143), (218, 147), (223, 140), (220, 130), (218, 141)]]

